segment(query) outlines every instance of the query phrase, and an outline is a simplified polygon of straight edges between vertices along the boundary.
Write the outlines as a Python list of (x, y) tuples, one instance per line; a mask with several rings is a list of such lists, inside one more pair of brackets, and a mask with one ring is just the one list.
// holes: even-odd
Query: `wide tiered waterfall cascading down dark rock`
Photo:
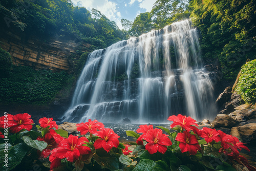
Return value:
[(64, 121), (165, 122), (183, 114), (215, 117), (214, 88), (196, 29), (184, 20), (92, 52)]

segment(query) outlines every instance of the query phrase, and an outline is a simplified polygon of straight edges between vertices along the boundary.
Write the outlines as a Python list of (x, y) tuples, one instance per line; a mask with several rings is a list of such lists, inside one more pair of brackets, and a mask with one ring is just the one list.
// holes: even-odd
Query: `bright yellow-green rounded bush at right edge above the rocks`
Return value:
[(256, 59), (242, 66), (236, 89), (247, 103), (256, 103)]

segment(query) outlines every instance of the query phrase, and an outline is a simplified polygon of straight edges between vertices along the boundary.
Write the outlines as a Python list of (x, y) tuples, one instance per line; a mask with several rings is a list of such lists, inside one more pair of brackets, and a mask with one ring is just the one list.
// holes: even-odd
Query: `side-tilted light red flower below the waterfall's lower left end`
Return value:
[(98, 122), (97, 120), (92, 121), (88, 120), (86, 123), (76, 124), (77, 131), (80, 131), (81, 135), (86, 135), (88, 132), (92, 134), (96, 134), (97, 130), (102, 130), (104, 128), (103, 123)]

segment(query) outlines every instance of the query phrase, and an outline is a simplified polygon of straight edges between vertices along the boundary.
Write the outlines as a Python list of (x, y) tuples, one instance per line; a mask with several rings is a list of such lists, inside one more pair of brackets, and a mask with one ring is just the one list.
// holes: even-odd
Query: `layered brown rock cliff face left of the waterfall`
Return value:
[(84, 51), (91, 51), (91, 45), (76, 40), (78, 39), (67, 41), (52, 39), (48, 42), (38, 38), (23, 40), (21, 36), (7, 32), (1, 35), (0, 46), (11, 54), (13, 65), (32, 66), (35, 70), (71, 71), (67, 56), (75, 53), (78, 47)]

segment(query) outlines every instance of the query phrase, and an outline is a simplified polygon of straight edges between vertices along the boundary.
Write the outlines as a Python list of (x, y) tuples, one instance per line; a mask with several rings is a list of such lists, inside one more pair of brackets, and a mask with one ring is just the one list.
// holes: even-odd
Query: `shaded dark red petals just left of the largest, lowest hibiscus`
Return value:
[(51, 135), (51, 133), (47, 133), (44, 137), (37, 137), (38, 141), (45, 141), (47, 143), (47, 147), (42, 150), (39, 154), (39, 159), (47, 158), (51, 153), (51, 148), (55, 148), (57, 146), (57, 143), (55, 142), (55, 139)]

